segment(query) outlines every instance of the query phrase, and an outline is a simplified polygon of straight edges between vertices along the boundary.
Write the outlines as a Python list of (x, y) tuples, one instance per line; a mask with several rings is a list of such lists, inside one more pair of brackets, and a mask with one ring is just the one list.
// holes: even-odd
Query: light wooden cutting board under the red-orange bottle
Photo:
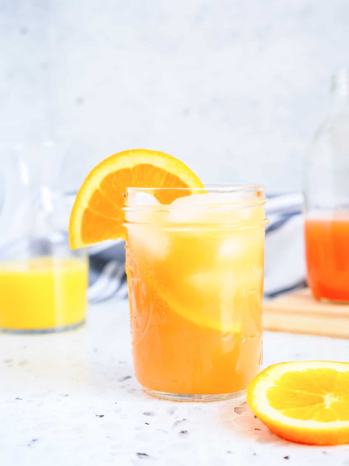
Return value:
[(264, 303), (265, 330), (349, 338), (349, 305), (316, 301), (302, 289)]

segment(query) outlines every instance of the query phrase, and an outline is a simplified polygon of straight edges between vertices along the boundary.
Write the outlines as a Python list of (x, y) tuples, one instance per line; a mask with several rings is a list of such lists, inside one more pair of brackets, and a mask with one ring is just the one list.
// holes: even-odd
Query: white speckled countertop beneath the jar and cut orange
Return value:
[[(349, 342), (265, 333), (264, 364), (346, 360)], [(145, 463), (144, 463), (145, 462)], [(349, 465), (349, 445), (296, 445), (269, 432), (243, 398), (175, 403), (134, 377), (126, 302), (89, 308), (56, 335), (0, 334), (0, 464)]]

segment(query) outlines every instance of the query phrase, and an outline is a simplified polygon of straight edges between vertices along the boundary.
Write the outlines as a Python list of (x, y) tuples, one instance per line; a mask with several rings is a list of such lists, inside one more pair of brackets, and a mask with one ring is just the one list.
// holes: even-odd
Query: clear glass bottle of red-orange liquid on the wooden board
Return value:
[(305, 249), (315, 298), (349, 303), (349, 69), (305, 158)]

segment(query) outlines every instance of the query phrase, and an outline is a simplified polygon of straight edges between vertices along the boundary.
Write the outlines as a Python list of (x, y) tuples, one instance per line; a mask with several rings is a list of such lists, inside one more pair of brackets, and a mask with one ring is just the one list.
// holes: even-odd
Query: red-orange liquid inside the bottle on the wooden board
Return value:
[(349, 215), (306, 219), (305, 248), (315, 297), (349, 302)]

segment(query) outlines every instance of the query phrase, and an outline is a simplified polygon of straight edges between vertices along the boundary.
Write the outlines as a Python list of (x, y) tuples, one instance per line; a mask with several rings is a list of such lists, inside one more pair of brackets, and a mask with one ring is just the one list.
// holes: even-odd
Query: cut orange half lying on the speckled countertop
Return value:
[(250, 382), (247, 403), (283, 439), (311, 445), (349, 443), (349, 363), (275, 364)]

